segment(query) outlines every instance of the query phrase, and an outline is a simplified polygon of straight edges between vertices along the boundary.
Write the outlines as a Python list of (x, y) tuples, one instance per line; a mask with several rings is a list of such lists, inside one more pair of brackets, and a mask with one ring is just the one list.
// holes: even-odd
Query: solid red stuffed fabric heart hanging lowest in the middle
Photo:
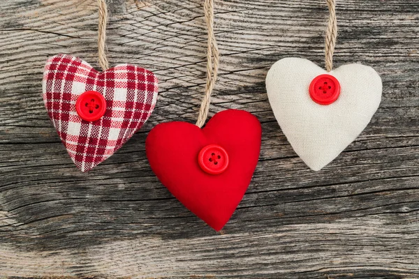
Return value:
[[(161, 123), (150, 131), (145, 150), (154, 173), (170, 193), (219, 231), (249, 186), (258, 163), (261, 135), (255, 116), (225, 110), (215, 114), (203, 129), (186, 122)], [(200, 151), (212, 144), (228, 154), (228, 166), (220, 174), (205, 172), (198, 162), (218, 163), (215, 153), (200, 157)]]

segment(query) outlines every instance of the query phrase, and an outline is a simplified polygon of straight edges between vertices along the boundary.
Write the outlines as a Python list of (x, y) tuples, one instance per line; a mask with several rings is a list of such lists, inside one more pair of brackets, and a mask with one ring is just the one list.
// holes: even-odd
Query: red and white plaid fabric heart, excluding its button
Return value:
[[(76, 100), (85, 91), (105, 98), (101, 119), (85, 121), (76, 112)], [(157, 91), (156, 76), (149, 70), (122, 64), (100, 73), (67, 54), (48, 59), (43, 75), (48, 115), (82, 172), (112, 156), (142, 127), (156, 105)]]

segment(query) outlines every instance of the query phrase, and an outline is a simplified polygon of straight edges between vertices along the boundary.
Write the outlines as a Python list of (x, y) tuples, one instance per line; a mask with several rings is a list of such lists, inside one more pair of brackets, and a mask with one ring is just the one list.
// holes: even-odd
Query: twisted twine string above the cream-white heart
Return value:
[(333, 68), (333, 52), (335, 52), (337, 38), (336, 2), (335, 0), (326, 1), (328, 2), (330, 15), (325, 39), (325, 64), (326, 70), (330, 72)]

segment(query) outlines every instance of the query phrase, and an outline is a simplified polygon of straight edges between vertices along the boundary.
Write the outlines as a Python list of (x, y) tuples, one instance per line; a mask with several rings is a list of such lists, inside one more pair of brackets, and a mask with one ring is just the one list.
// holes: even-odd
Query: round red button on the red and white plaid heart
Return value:
[(75, 111), (85, 121), (101, 119), (106, 111), (105, 98), (96, 91), (86, 91), (75, 102)]

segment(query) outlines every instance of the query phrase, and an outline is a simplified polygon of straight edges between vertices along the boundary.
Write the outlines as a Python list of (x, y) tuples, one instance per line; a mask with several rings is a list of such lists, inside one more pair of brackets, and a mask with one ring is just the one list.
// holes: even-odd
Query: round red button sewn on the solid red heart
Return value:
[(221, 174), (228, 167), (228, 154), (221, 146), (210, 144), (199, 152), (198, 163), (208, 174)]

